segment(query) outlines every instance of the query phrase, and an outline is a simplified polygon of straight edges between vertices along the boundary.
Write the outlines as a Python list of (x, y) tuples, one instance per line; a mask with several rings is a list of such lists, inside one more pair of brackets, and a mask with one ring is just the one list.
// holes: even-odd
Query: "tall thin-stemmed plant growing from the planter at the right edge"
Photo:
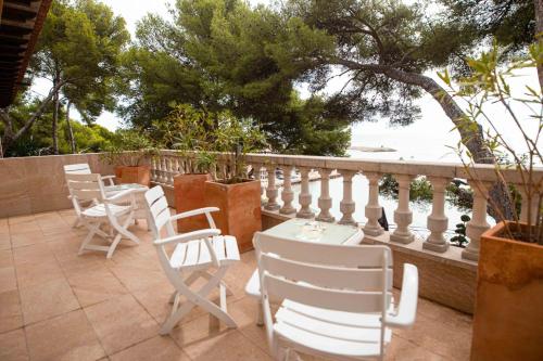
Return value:
[[(439, 74), (447, 85), (450, 93), (466, 104), (466, 116), (459, 121), (459, 128), (487, 126), (484, 142), (494, 157), (494, 172), (500, 182), (506, 183), (507, 175), (512, 173), (521, 182), (516, 186), (504, 186), (505, 202), (513, 209), (513, 219), (508, 219), (501, 210), (503, 205), (496, 204), (490, 196), (491, 190), (483, 183), (476, 167), (475, 156), (459, 142), (454, 150), (464, 164), (472, 186), (481, 192), (489, 201), (500, 221), (505, 224), (505, 236), (512, 240), (543, 244), (543, 177), (541, 168), (543, 156), (539, 147), (543, 131), (543, 95), (541, 89), (525, 87), (523, 94), (512, 91), (510, 79), (516, 73), (534, 68), (543, 63), (543, 47), (535, 42), (529, 48), (526, 59), (517, 60), (505, 67), (498, 66), (502, 50), (496, 44), (483, 52), (478, 59), (468, 59), (470, 75), (462, 77), (458, 85), (445, 70)], [(491, 116), (489, 105), (501, 107), (501, 116)], [(522, 108), (525, 112), (520, 112)], [(515, 149), (508, 136), (500, 131), (500, 123), (513, 123), (523, 141), (525, 152)], [(528, 206), (525, 221), (521, 227), (518, 198), (522, 194)], [(509, 222), (507, 222), (509, 221)]]

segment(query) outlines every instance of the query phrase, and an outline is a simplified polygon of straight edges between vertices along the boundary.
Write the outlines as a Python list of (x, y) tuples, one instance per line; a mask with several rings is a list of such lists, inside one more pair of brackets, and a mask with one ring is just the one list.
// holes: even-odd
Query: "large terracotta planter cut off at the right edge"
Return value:
[[(526, 225), (525, 225), (526, 227)], [(543, 360), (543, 246), (481, 236), (471, 360)]]

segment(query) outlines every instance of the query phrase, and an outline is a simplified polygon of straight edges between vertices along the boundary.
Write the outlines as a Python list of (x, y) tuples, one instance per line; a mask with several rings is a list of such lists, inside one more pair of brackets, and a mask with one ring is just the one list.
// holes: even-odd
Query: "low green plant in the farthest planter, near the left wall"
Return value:
[(136, 130), (118, 130), (113, 144), (101, 154), (103, 160), (112, 165), (137, 167), (143, 160), (159, 155), (159, 149), (144, 134)]

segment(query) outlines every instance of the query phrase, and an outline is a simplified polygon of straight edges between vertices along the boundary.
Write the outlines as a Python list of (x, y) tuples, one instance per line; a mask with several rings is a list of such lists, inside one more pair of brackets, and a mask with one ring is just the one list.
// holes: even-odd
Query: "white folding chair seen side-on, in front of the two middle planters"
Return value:
[[(239, 261), (239, 250), (236, 237), (231, 235), (219, 235), (211, 212), (218, 208), (207, 207), (185, 211), (172, 216), (160, 185), (146, 192), (146, 199), (151, 215), (151, 230), (154, 233), (156, 253), (166, 276), (175, 287), (171, 302), (172, 312), (163, 323), (160, 334), (168, 334), (175, 325), (187, 315), (192, 308), (200, 306), (217, 319), (222, 320), (228, 327), (237, 327), (233, 319), (228, 314), (226, 307), (226, 295), (228, 291), (223, 278), (233, 262)], [(203, 215), (207, 218), (210, 229), (176, 234), (174, 221), (181, 218)], [(166, 237), (162, 237), (163, 229), (166, 229)], [(175, 244), (174, 250), (168, 254), (167, 245)], [(209, 272), (216, 268), (214, 273)], [(200, 278), (207, 282), (198, 291), (190, 286)], [(220, 306), (207, 299), (209, 294), (219, 287)], [(186, 301), (180, 304), (180, 296)]]

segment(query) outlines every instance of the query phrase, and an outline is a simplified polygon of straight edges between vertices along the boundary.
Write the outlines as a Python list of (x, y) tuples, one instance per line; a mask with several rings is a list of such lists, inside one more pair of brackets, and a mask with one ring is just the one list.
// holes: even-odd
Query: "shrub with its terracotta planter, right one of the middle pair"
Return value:
[(261, 180), (248, 178), (245, 154), (265, 144), (264, 136), (251, 119), (229, 113), (218, 118), (216, 144), (223, 165), (215, 180), (204, 184), (205, 205), (220, 208), (214, 215), (223, 234), (236, 236), (240, 252), (253, 248), (254, 232), (262, 230)]

